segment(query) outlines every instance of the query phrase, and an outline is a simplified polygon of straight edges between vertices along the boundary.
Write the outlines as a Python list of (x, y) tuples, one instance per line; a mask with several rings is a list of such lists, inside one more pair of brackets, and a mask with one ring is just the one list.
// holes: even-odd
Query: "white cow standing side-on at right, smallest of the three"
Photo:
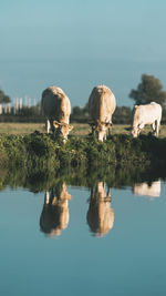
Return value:
[(162, 120), (162, 106), (155, 102), (146, 105), (135, 105), (133, 110), (132, 134), (137, 137), (146, 124), (151, 124), (155, 135), (158, 135)]

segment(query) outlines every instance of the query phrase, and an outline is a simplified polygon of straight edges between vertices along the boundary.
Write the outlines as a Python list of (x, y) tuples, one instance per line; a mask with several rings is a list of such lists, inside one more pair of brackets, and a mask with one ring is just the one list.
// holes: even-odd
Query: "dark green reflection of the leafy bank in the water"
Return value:
[(0, 191), (7, 186), (24, 187), (30, 191), (43, 192), (56, 187), (60, 183), (66, 185), (92, 187), (98, 181), (106, 182), (110, 187), (132, 186), (135, 183), (147, 182), (151, 184), (158, 177), (166, 174), (160, 170), (136, 167), (134, 165), (113, 165), (101, 167), (62, 167), (61, 170), (53, 166), (42, 167), (15, 167), (0, 171)]

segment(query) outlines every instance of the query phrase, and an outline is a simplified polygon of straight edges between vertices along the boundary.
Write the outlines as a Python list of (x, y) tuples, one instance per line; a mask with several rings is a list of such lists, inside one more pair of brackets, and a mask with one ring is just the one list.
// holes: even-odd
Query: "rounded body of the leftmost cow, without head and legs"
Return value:
[(42, 93), (42, 110), (45, 116), (69, 123), (71, 103), (65, 93), (56, 86), (50, 86)]

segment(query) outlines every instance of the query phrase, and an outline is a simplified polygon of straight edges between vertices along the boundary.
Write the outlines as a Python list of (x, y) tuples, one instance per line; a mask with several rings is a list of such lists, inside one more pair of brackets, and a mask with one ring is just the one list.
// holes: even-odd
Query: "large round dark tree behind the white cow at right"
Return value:
[(159, 79), (147, 74), (142, 75), (142, 82), (137, 90), (131, 91), (129, 98), (134, 99), (138, 105), (156, 102), (164, 106), (166, 103), (166, 92), (163, 91)]

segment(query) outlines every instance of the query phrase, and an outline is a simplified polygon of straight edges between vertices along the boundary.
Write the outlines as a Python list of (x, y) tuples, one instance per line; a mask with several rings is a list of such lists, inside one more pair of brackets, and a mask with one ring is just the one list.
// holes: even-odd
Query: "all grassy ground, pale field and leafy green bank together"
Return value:
[[(62, 167), (102, 166), (165, 167), (166, 126), (159, 137), (146, 129), (133, 139), (128, 125), (114, 125), (111, 137), (101, 143), (89, 136), (87, 124), (73, 124), (66, 145), (62, 139), (46, 134), (44, 124), (0, 124), (0, 169), (27, 167), (30, 172), (62, 170)], [(157, 169), (158, 170), (158, 169)], [(162, 169), (163, 170), (163, 169)]]

